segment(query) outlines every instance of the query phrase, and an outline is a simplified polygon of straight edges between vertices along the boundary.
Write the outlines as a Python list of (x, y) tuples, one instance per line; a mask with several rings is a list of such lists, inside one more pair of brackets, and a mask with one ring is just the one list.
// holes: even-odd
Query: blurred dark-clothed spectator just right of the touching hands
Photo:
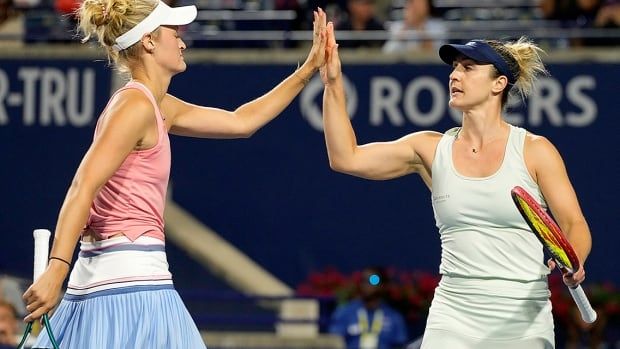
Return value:
[(377, 18), (375, 0), (348, 0), (346, 17), (336, 23), (336, 30), (341, 32), (340, 47), (381, 47), (384, 40), (349, 39), (344, 31), (370, 32), (385, 31), (383, 23)]

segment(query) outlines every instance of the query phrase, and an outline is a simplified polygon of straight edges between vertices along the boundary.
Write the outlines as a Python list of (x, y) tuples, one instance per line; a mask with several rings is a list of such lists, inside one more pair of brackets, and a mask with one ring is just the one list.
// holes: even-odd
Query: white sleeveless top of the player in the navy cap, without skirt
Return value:
[(452, 146), (458, 130), (443, 135), (432, 164), (432, 204), (442, 248), (440, 273), (524, 282), (544, 278), (549, 270), (542, 244), (510, 195), (519, 185), (546, 208), (525, 165), (526, 130), (510, 126), (502, 164), (484, 178), (456, 171)]

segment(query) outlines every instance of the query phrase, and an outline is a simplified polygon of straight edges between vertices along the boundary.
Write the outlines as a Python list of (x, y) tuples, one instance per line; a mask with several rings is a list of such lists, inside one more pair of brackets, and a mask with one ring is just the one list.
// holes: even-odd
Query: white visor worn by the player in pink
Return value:
[(116, 38), (116, 44), (112, 46), (116, 51), (124, 50), (140, 41), (144, 34), (148, 34), (160, 25), (185, 25), (196, 19), (198, 11), (196, 6), (170, 7), (159, 2), (157, 7), (135, 27)]

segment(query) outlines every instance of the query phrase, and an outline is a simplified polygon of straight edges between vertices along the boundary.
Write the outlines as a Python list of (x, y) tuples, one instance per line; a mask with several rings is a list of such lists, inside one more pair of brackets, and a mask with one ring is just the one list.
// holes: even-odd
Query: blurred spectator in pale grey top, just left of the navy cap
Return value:
[(390, 38), (383, 45), (383, 51), (438, 50), (445, 43), (442, 37), (446, 27), (441, 20), (431, 17), (431, 8), (431, 0), (407, 0), (403, 19), (389, 26)]

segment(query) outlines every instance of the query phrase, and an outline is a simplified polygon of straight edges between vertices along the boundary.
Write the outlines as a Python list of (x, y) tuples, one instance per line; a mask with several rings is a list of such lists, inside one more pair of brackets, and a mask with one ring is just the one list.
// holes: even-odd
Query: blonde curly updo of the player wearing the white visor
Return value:
[(78, 29), (82, 42), (96, 38), (106, 49), (108, 61), (121, 72), (129, 71), (129, 63), (137, 59), (142, 49), (133, 45), (120, 52), (114, 50), (116, 38), (140, 23), (157, 6), (156, 0), (84, 0), (77, 10)]

